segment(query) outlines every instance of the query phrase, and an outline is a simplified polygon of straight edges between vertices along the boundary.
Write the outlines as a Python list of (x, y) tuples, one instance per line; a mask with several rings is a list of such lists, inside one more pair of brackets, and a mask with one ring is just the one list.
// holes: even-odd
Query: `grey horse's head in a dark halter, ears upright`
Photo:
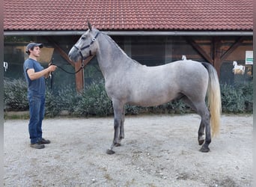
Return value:
[(100, 31), (91, 28), (90, 22), (88, 22), (88, 31), (82, 34), (82, 37), (76, 42), (76, 44), (70, 49), (69, 57), (71, 61), (77, 62), (85, 60), (92, 55), (96, 54), (97, 51), (97, 37)]

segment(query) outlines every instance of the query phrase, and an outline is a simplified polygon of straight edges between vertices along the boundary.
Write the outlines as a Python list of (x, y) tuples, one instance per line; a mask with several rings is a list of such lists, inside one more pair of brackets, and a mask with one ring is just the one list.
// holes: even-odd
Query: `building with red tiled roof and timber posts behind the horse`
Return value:
[[(46, 1), (28, 7), (26, 1), (4, 1), (4, 61), (9, 64), (4, 76), (23, 77), (24, 49), (30, 41), (44, 44), (40, 58), (44, 66), (53, 61), (75, 72), (79, 65), (67, 53), (90, 20), (141, 64), (167, 64), (186, 55), (213, 64), (220, 82), (252, 80), (252, 64), (246, 63), (246, 52), (252, 52), (252, 1), (141, 2), (54, 0), (51, 7)], [(244, 73), (234, 74), (234, 61), (245, 67)], [(93, 58), (76, 75), (58, 70), (54, 80), (56, 86), (76, 83), (81, 91), (86, 82), (100, 77)]]

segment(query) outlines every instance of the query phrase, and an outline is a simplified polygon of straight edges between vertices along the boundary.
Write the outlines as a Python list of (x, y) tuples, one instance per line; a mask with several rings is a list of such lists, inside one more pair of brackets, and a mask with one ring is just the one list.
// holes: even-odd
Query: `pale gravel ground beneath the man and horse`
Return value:
[(199, 152), (200, 117), (128, 116), (114, 155), (113, 119), (43, 121), (43, 150), (29, 147), (28, 120), (4, 122), (5, 186), (252, 186), (252, 115), (222, 115), (209, 153)]

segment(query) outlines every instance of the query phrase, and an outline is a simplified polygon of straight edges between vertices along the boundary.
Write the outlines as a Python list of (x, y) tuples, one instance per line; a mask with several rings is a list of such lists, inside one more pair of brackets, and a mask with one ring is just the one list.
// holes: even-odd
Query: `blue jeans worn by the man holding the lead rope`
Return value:
[(42, 140), (42, 121), (44, 117), (45, 96), (30, 96), (28, 94), (29, 104), (29, 123), (28, 132), (31, 144)]

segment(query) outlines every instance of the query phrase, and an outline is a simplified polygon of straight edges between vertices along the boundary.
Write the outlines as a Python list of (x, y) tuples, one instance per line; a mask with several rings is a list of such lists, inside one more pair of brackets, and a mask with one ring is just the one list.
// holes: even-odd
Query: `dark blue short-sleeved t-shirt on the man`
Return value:
[(23, 70), (25, 74), (25, 80), (28, 83), (28, 96), (36, 95), (36, 96), (44, 96), (46, 91), (46, 85), (44, 81), (44, 77), (40, 77), (39, 79), (31, 80), (28, 77), (27, 70), (34, 69), (34, 72), (40, 72), (43, 70), (43, 67), (39, 62), (34, 61), (31, 58), (25, 60), (23, 64)]

